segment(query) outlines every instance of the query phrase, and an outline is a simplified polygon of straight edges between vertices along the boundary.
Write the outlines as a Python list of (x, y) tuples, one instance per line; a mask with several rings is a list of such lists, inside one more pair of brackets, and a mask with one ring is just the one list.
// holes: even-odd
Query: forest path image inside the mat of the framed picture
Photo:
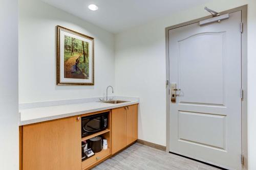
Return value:
[(64, 78), (89, 79), (89, 43), (65, 35)]

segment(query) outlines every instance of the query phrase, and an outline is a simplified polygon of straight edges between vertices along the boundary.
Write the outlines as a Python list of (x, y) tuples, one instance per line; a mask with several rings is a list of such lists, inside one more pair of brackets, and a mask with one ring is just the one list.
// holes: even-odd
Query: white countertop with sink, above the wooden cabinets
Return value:
[(19, 126), (44, 122), (63, 117), (70, 117), (80, 114), (92, 113), (101, 110), (113, 109), (133, 104), (138, 104), (139, 101), (109, 104), (102, 102), (87, 102), (78, 104), (58, 105), (49, 107), (37, 107), (30, 109), (21, 109)]

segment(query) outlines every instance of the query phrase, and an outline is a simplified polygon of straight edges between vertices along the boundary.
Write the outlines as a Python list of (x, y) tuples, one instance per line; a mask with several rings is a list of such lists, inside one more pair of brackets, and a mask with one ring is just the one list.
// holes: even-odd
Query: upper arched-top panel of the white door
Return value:
[(220, 32), (178, 41), (179, 86), (186, 94), (180, 96), (181, 103), (223, 104), (225, 40), (226, 33)]

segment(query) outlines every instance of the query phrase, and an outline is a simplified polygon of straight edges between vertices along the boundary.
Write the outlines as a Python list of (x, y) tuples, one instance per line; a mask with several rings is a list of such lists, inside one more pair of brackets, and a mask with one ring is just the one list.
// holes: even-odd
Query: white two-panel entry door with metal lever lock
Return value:
[(241, 11), (169, 30), (169, 151), (241, 169)]

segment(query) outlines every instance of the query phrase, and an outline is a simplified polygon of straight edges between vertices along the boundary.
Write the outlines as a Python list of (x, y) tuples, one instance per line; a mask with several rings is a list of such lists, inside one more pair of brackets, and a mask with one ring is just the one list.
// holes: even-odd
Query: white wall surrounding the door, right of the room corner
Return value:
[[(166, 144), (165, 28), (209, 13), (248, 4), (248, 147), (249, 169), (256, 169), (256, 1), (215, 0), (115, 36), (115, 85), (118, 95), (140, 97), (139, 139)], [(254, 144), (253, 144), (254, 143)]]

